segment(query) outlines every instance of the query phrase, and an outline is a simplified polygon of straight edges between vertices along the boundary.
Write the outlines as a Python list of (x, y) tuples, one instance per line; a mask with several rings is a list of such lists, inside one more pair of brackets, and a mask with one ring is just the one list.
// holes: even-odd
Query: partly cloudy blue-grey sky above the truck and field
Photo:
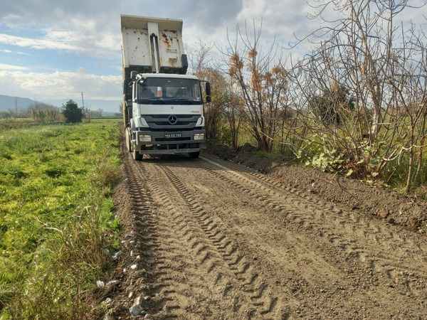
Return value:
[[(420, 2), (423, 0), (410, 0)], [(262, 19), (265, 40), (288, 48), (318, 26), (305, 0), (14, 0), (0, 3), (0, 95), (117, 112), (122, 94), (120, 14), (181, 18), (187, 51), (227, 45), (227, 30)], [(427, 7), (405, 19), (425, 21)], [(302, 44), (292, 49), (307, 50)], [(289, 53), (289, 51), (288, 51)], [(220, 53), (216, 53), (220, 55)]]

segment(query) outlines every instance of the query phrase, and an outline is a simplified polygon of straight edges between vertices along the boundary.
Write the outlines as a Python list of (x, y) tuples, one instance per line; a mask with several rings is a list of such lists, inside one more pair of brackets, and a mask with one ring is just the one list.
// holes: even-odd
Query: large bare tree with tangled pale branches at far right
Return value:
[(422, 150), (426, 92), (423, 41), (396, 23), (408, 6), (405, 0), (312, 1), (315, 16), (333, 9), (337, 18), (308, 37), (317, 48), (292, 64), (293, 105), (314, 133), (302, 138), (339, 151), (350, 173), (385, 180), (396, 171), (389, 164), (401, 166), (407, 155), (407, 191), (417, 176), (414, 150)]

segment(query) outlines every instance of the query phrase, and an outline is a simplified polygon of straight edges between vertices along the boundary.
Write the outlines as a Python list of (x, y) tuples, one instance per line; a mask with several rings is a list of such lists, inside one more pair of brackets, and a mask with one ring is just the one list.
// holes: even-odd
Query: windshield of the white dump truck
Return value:
[(147, 78), (139, 82), (138, 100), (149, 105), (200, 105), (200, 83), (194, 79)]

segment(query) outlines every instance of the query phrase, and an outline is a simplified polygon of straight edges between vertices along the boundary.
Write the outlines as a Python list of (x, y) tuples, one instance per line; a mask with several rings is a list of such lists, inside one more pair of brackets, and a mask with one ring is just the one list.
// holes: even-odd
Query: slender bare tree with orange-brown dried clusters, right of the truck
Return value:
[(285, 103), (288, 90), (288, 73), (283, 67), (275, 41), (270, 50), (261, 52), (262, 26), (253, 26), (243, 31), (236, 27), (233, 41), (228, 36), (228, 75), (236, 82), (244, 102), (246, 118), (251, 133), (264, 151), (273, 149), (278, 132), (278, 113)]

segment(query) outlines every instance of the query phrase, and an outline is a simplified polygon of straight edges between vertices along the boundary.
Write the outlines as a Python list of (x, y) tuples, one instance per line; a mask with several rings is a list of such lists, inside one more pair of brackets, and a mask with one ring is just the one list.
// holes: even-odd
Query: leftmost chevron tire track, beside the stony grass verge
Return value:
[[(138, 228), (137, 243), (131, 255), (135, 256), (135, 265), (140, 264), (132, 278), (137, 282), (135, 287), (140, 287), (144, 296), (149, 297), (143, 306), (149, 314), (178, 318), (183, 311), (177, 302), (186, 299), (186, 292), (190, 292), (185, 275), (175, 267), (183, 256), (172, 230), (159, 223), (158, 211), (154, 210), (154, 200), (147, 188), (149, 181), (135, 170), (130, 161), (128, 164), (126, 171), (132, 214)], [(169, 255), (165, 255), (166, 252)]]

